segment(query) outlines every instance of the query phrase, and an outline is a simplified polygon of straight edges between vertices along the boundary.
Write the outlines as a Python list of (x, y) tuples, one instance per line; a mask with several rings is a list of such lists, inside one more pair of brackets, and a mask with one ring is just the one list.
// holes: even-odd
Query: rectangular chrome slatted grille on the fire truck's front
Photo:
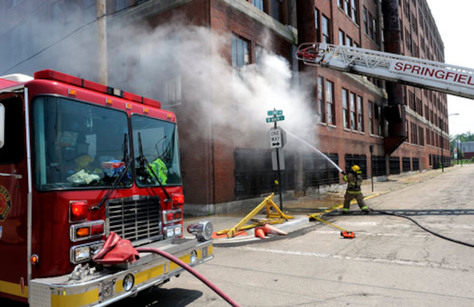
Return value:
[(134, 246), (163, 239), (158, 196), (110, 199), (107, 230), (128, 239)]

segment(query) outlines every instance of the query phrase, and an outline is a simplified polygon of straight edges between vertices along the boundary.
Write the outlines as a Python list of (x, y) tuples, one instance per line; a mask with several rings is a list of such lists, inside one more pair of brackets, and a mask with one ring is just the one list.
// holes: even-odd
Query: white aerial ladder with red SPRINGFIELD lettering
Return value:
[(326, 43), (301, 44), (296, 57), (308, 65), (474, 99), (474, 69), (471, 68)]

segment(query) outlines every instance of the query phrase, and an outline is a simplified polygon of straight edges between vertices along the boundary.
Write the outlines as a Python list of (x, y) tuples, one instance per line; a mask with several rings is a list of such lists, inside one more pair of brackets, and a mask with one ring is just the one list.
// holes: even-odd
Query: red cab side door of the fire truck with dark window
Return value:
[[(27, 147), (23, 91), (0, 92), (0, 297), (27, 299)], [(1, 114), (3, 113), (3, 114)]]

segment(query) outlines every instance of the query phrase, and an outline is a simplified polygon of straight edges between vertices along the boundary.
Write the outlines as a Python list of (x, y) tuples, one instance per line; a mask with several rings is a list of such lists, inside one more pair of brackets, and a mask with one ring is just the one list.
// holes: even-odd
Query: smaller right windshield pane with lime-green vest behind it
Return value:
[[(181, 184), (176, 124), (140, 115), (132, 115), (131, 123), (137, 184)], [(143, 154), (149, 164), (139, 158), (140, 154)]]

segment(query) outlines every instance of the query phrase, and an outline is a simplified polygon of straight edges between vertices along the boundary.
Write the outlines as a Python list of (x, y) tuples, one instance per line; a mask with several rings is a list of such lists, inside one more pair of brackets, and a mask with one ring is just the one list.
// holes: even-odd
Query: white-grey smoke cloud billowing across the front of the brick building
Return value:
[[(288, 60), (273, 53), (271, 36), (262, 34), (264, 51), (258, 65), (252, 63), (236, 73), (230, 60), (230, 34), (217, 34), (209, 28), (185, 25), (177, 20), (183, 19), (176, 17), (155, 28), (124, 27), (117, 22), (108, 25), (108, 85), (162, 100), (164, 85), (178, 75), (182, 105), (171, 110), (176, 109), (179, 114), (180, 108), (192, 104), (197, 114), (211, 114), (214, 125), (231, 127), (240, 133), (239, 143), (235, 144), (253, 145), (264, 140), (273, 127), (273, 123), (265, 122), (267, 111), (273, 108), (283, 110), (285, 117), (278, 126), (315, 144), (313, 79), (300, 78), (308, 81), (305, 85), (294, 82)], [(40, 24), (39, 20), (36, 22)], [(2, 63), (3, 68), (16, 67), (19, 71), (15, 72), (28, 74), (51, 68), (98, 80), (96, 23), (71, 35), (64, 33), (64, 27), (59, 24), (41, 24), (38, 28), (46, 29), (41, 32), (43, 36), (64, 38), (36, 55), (35, 50), (30, 50), (29, 54), (34, 56), (28, 58), (24, 54), (27, 60), (10, 56), (21, 64)], [(59, 33), (55, 35), (54, 31)], [(55, 42), (46, 36), (45, 41)], [(41, 36), (36, 41), (41, 42)], [(202, 120), (202, 117), (185, 120)], [(216, 133), (215, 137), (219, 135)]]

